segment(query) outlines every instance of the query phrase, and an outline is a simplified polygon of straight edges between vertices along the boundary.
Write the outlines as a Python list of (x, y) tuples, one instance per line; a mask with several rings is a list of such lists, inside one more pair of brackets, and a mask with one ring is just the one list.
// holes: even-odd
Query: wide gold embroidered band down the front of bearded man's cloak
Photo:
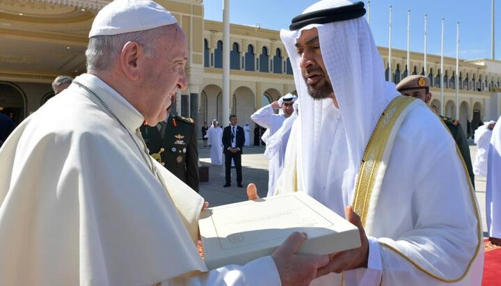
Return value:
[(415, 100), (413, 97), (395, 97), (386, 107), (377, 122), (376, 128), (365, 148), (362, 164), (358, 171), (358, 178), (355, 185), (355, 196), (353, 198), (353, 210), (360, 216), (362, 225), (365, 227), (369, 201), (374, 189), (374, 183), (379, 168), (385, 146), (388, 143), (388, 136), (392, 131), (395, 122), (406, 107)]

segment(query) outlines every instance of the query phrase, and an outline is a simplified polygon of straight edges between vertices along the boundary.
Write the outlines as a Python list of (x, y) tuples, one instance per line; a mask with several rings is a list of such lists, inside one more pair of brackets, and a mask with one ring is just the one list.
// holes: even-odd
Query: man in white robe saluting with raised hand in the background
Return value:
[[(293, 104), (296, 99), (296, 95), (287, 93), (287, 95), (280, 97), (278, 101), (263, 106), (250, 116), (250, 119), (254, 122), (267, 128), (267, 132), (264, 132), (262, 136), (264, 143), (267, 143), (264, 154), (269, 159), (267, 196), (273, 196), (276, 181), (278, 177), (280, 177), (280, 173), (282, 173), (285, 148), (287, 147), (287, 141), (289, 141), (290, 127), (296, 118), (296, 116), (292, 116), (294, 114)], [(276, 114), (276, 109), (280, 109), (282, 112)], [(289, 120), (291, 122), (287, 125), (287, 130), (283, 129), (280, 131), (280, 134), (277, 134), (278, 130), (283, 127), (285, 120), (291, 117), (292, 120)]]

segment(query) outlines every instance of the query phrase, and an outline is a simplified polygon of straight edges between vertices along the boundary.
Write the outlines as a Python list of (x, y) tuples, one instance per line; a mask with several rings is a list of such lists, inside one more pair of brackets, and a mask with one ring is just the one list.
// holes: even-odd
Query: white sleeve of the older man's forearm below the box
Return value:
[(280, 276), (271, 256), (248, 262), (244, 266), (227, 265), (191, 278), (164, 281), (162, 286), (280, 286)]

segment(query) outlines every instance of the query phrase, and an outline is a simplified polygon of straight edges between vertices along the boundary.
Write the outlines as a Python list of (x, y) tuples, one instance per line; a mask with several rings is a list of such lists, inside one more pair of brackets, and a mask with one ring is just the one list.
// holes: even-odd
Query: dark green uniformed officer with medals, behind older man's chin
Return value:
[(157, 126), (141, 127), (141, 134), (152, 157), (198, 192), (198, 143), (193, 119), (169, 114)]

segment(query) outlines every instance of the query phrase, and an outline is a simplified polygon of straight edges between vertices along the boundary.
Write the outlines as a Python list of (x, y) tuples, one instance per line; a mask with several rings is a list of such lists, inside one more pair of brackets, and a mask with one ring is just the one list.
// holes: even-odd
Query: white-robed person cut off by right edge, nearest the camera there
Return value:
[(487, 164), (487, 231), (491, 243), (501, 246), (501, 117), (492, 132)]

